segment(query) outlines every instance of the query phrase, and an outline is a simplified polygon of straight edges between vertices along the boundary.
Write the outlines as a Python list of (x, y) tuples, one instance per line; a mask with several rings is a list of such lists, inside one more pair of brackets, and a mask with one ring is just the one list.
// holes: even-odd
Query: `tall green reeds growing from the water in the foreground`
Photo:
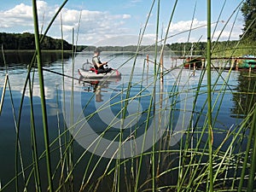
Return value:
[[(61, 9), (67, 1), (62, 3), (44, 35), (40, 35), (38, 32), (37, 3), (35, 0), (32, 2), (37, 50), (31, 65), (28, 67), (18, 116), (16, 117), (15, 112), (13, 112), (16, 134), (15, 176), (7, 183), (0, 181), (0, 191), (10, 191), (10, 189), (15, 191), (253, 191), (256, 189), (256, 84), (255, 81), (251, 81), (252, 84), (248, 84), (247, 90), (234, 90), (229, 81), (231, 70), (224, 73), (224, 69), (212, 69), (211, 55), (215, 49), (212, 47), (211, 40), (211, 0), (207, 1), (207, 68), (198, 71), (199, 79), (197, 79), (196, 84), (189, 86), (182, 82), (183, 70), (185, 70), (183, 68), (184, 61), (180, 66), (166, 69), (160, 59), (160, 55), (164, 54), (166, 39), (169, 38), (168, 34), (177, 1), (174, 3), (170, 15), (169, 25), (165, 32), (166, 37), (161, 39), (159, 38), (160, 0), (152, 1), (148, 15), (152, 14), (154, 7), (157, 7), (158, 15), (155, 32), (156, 42), (153, 45), (155, 46), (155, 54), (152, 61), (149, 61), (154, 67), (154, 74), (148, 76), (150, 64), (148, 64), (148, 60), (145, 60), (141, 79), (134, 80), (137, 55), (140, 53), (137, 50), (137, 53), (130, 58), (133, 65), (128, 84), (120, 87), (116, 95), (108, 101), (112, 103), (112, 106), (120, 106), (119, 113), (109, 125), (104, 127), (104, 131), (98, 133), (96, 140), (88, 148), (83, 149), (79, 148), (79, 144), (76, 143), (76, 138), (79, 137), (80, 131), (84, 127), (83, 122), (93, 119), (97, 113), (108, 108), (108, 103), (102, 105), (102, 108), (97, 108), (96, 111), (88, 112), (88, 106), (95, 98), (91, 96), (88, 102), (84, 104), (83, 110), (86, 112), (86, 116), (83, 117), (83, 114), (80, 114), (79, 118), (74, 118), (76, 101), (73, 95), (73, 86), (76, 79), (72, 79), (71, 93), (66, 95), (65, 90), (70, 84), (66, 84), (67, 81), (63, 75), (62, 91), (59, 92), (56, 88), (56, 92), (57, 97), (62, 94), (61, 99), (64, 102), (67, 101), (69, 107), (62, 104), (61, 111), (59, 105), (63, 101), (57, 99), (56, 105), (59, 110), (56, 119), (58, 119), (58, 125), (54, 126), (58, 134), (55, 137), (49, 135), (49, 129), (53, 127), (47, 119), (40, 42), (44, 39), (44, 35), (47, 34), (52, 22), (61, 13)], [(149, 16), (146, 25), (141, 29), (138, 48), (142, 43), (148, 20)], [(191, 30), (193, 30), (192, 25)], [(62, 33), (61, 36), (63, 36)], [(159, 49), (159, 44), (162, 44), (162, 49)], [(73, 49), (73, 66), (75, 63), (74, 53), (75, 50)], [(35, 68), (32, 67), (34, 64), (37, 64), (38, 70), (34, 70)], [(120, 67), (125, 65), (126, 62), (122, 63)], [(64, 65), (62, 64), (62, 73), (64, 72)], [(12, 96), (11, 84), (8, 84), (8, 70), (6, 73), (4, 90), (9, 90), (9, 96)], [(33, 104), (35, 73), (38, 73), (40, 82), (44, 150), (38, 149), (41, 147), (38, 146), (38, 129), (35, 124), (36, 114)], [(172, 81), (172, 86), (167, 89), (167, 92), (162, 92), (163, 90), (160, 88), (162, 80), (172, 73), (177, 74), (176, 79)], [(213, 73), (214, 79), (212, 78)], [(145, 79), (151, 79), (150, 83), (145, 84)], [(204, 84), (205, 79), (207, 79), (207, 84)], [(193, 73), (186, 79), (187, 84), (190, 80), (193, 80)], [(134, 87), (137, 88), (136, 95), (132, 94)], [(28, 148), (26, 146), (26, 150), (29, 150), (32, 159), (29, 160), (29, 163), (24, 163), (26, 158), (24, 157), (23, 143), (20, 141), (20, 118), (23, 98), (27, 89), (30, 95), (31, 146)], [(146, 90), (151, 90), (151, 92)], [(245, 92), (246, 94), (244, 94)], [(246, 96), (246, 100), (244, 100), (247, 101), (246, 104), (241, 103), (239, 97), (235, 97), (235, 102), (239, 103), (238, 106), (240, 106), (239, 110), (243, 111), (245, 115), (236, 125), (224, 125), (225, 129), (223, 129), (223, 126), (220, 126), (221, 122), (218, 121), (218, 116), (221, 115), (221, 107), (225, 104), (224, 98), (229, 94)], [(4, 95), (5, 91), (3, 91)], [(164, 97), (166, 100), (160, 101), (161, 96), (167, 96)], [(0, 107), (3, 105), (4, 97), (2, 98)], [(201, 101), (201, 108), (198, 108), (197, 104), (201, 98), (204, 100)], [(135, 125), (136, 129), (132, 130), (130, 135), (125, 136), (125, 130), (129, 128), (129, 124), (125, 124), (125, 119), (134, 120), (142, 115), (139, 107), (137, 107), (137, 113), (127, 113), (129, 103), (133, 100), (142, 102), (145, 99), (148, 101), (148, 106), (143, 111), (146, 113), (146, 118), (143, 123), (137, 121), (139, 123)], [(248, 108), (243, 108), (244, 105)], [(179, 125), (182, 128), (179, 131), (175, 131), (177, 113), (182, 116)], [(163, 114), (168, 117), (167, 122), (163, 118)], [(96, 154), (102, 140), (108, 137), (108, 131), (117, 123), (118, 117), (121, 117), (118, 133), (112, 137), (112, 141), (106, 146), (105, 151), (102, 151), (102, 154)], [(63, 122), (61, 123), (61, 121)], [(153, 144), (147, 148), (147, 131), (152, 122), (160, 123), (153, 126), (153, 132), (150, 135)], [(158, 125), (163, 125), (163, 127)], [(144, 131), (142, 145), (137, 146), (137, 143), (132, 142), (132, 140), (135, 140), (139, 131), (142, 130), (141, 127)], [(159, 138), (160, 131), (161, 137)], [(176, 139), (175, 136), (179, 141), (172, 145)], [(222, 138), (220, 142), (219, 140), (216, 142), (217, 137)], [(113, 148), (113, 143), (118, 143), (118, 147), (112, 152), (111, 157), (106, 158), (108, 151)], [(126, 143), (130, 143), (131, 148), (134, 149), (134, 151), (131, 150), (128, 157), (125, 156), (124, 146)]]

